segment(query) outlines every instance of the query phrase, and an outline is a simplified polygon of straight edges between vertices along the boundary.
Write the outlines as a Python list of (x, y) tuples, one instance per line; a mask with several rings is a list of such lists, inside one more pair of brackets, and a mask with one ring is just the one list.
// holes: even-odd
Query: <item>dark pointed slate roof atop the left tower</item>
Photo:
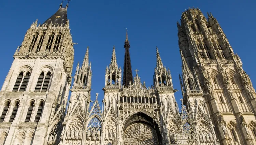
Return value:
[(67, 9), (68, 9), (68, 4), (66, 5), (65, 8), (62, 8), (62, 3), (60, 4), (60, 7), (58, 11), (53, 14), (50, 18), (48, 18), (43, 24), (48, 24), (50, 25), (51, 23), (53, 25), (55, 24), (66, 24), (67, 23)]

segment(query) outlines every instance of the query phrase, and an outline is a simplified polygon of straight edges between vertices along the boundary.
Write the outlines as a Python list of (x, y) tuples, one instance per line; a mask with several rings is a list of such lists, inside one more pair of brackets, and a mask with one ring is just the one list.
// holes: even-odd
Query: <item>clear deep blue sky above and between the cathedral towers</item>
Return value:
[[(11, 67), (13, 54), (36, 19), (43, 23), (52, 16), (61, 0), (4, 0), (0, 8), (0, 44), (2, 85)], [(65, 3), (66, 4), (66, 3)], [(181, 60), (178, 47), (176, 22), (188, 7), (198, 7), (206, 16), (212, 12), (224, 30), (234, 52), (243, 62), (243, 69), (256, 85), (255, 74), (255, 5), (248, 0), (72, 0), (68, 19), (75, 45), (73, 74), (77, 62), (83, 61), (89, 46), (89, 61), (92, 62), (92, 100), (99, 93), (103, 99), (105, 69), (111, 60), (113, 45), (116, 47), (117, 63), (124, 63), (125, 28), (128, 29), (132, 69), (138, 69), (141, 81), (153, 85), (156, 66), (156, 46), (163, 64), (171, 70), (174, 88), (180, 90), (178, 73)], [(81, 64), (81, 63), (80, 63)], [(133, 72), (135, 73), (135, 72)], [(175, 93), (180, 105), (181, 91)]]

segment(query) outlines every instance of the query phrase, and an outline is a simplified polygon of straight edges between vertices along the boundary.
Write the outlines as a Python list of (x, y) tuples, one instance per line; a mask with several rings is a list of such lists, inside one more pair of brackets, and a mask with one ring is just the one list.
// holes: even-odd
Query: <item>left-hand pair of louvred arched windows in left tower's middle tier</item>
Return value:
[(28, 80), (29, 80), (29, 76), (30, 76), (30, 72), (27, 72), (26, 75), (23, 75), (23, 72), (20, 72), (16, 82), (14, 84), (13, 87), (13, 92), (24, 92), (26, 90), (27, 84), (28, 84)]

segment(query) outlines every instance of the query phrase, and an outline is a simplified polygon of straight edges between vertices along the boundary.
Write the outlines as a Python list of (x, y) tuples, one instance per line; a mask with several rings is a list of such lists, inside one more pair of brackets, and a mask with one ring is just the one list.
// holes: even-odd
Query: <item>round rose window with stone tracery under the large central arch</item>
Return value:
[(154, 128), (142, 122), (129, 125), (124, 133), (125, 145), (158, 145)]

